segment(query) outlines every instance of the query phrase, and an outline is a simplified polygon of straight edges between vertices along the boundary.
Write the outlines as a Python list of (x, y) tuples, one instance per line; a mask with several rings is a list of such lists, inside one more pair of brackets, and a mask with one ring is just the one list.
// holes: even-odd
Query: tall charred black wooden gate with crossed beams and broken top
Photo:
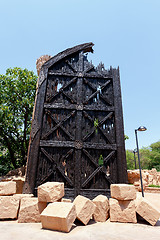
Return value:
[(59, 53), (41, 69), (24, 192), (46, 181), (65, 196), (109, 195), (127, 181), (119, 70), (87, 60), (92, 43)]

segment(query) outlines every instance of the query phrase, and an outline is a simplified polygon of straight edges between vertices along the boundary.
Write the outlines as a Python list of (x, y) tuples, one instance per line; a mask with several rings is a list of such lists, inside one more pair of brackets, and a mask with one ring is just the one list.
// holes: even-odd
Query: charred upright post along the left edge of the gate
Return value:
[[(42, 126), (43, 116), (42, 106), (44, 104), (45, 99), (46, 84), (47, 84), (47, 70), (42, 68), (37, 82), (38, 88), (36, 91), (35, 106), (32, 117), (31, 135), (27, 156), (26, 180), (24, 183), (23, 193), (34, 193), (39, 155), (39, 141), (41, 134), (41, 131), (39, 131), (39, 129), (41, 129)], [(36, 134), (33, 134), (35, 129), (38, 129), (38, 131), (36, 132)]]

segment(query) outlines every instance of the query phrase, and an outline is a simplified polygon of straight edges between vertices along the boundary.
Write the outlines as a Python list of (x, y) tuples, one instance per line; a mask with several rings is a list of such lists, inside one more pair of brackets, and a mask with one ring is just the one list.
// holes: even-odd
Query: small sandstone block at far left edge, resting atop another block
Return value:
[(16, 183), (9, 182), (0, 182), (0, 196), (13, 195), (16, 193)]

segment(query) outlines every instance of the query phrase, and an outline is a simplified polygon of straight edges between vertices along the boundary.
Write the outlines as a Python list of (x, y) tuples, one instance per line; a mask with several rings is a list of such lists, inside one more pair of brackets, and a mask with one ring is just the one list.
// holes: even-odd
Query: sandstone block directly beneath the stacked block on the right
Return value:
[(123, 223), (137, 223), (136, 206), (134, 200), (119, 201), (109, 199), (110, 221)]

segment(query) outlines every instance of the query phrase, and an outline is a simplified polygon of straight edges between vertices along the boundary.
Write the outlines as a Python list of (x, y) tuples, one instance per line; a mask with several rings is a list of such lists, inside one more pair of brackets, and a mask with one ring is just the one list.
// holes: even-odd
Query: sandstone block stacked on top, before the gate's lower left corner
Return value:
[(64, 183), (47, 182), (38, 187), (39, 202), (56, 202), (64, 196)]

